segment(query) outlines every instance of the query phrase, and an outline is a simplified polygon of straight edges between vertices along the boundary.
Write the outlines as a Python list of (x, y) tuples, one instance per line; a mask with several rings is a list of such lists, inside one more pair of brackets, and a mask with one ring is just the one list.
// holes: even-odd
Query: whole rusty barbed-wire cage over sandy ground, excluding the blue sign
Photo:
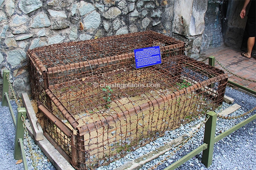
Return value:
[[(134, 68), (133, 50), (151, 46), (162, 64)], [(227, 74), (183, 52), (153, 31), (29, 51), (45, 132), (74, 167), (95, 169), (214, 109)]]

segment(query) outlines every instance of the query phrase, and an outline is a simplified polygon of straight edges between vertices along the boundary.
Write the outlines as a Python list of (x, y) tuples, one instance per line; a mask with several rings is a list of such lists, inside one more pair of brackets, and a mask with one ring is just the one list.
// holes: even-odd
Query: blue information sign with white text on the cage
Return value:
[(160, 47), (134, 49), (136, 68), (161, 64)]

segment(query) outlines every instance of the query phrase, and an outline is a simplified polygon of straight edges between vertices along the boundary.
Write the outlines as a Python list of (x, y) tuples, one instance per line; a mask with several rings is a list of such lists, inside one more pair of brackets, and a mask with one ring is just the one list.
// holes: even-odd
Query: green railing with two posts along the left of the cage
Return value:
[[(6, 76), (7, 75), (7, 76)], [(10, 114), (12, 116), (13, 125), (15, 127), (15, 142), (14, 142), (14, 159), (23, 160), (23, 167), (28, 170), (26, 162), (26, 154), (23, 147), (24, 131), (23, 120), (21, 117), (26, 117), (26, 108), (17, 108), (17, 118), (15, 118), (12, 105), (9, 99), (9, 82), (7, 77), (9, 77), (10, 71), (3, 71), (3, 98), (2, 106), (8, 106)]]

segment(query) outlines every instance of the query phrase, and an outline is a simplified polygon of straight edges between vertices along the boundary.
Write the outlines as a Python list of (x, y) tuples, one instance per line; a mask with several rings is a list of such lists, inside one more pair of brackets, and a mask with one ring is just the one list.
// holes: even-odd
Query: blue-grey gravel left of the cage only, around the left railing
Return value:
[[(17, 105), (15, 101), (11, 101), (14, 114), (17, 114)], [(0, 102), (0, 167), (1, 170), (23, 170), (23, 163), (16, 164), (17, 160), (14, 159), (14, 140), (15, 140), (15, 127), (12, 122), (11, 114), (8, 107), (2, 107)], [(55, 167), (47, 159), (38, 145), (31, 139), (29, 140), (32, 146), (32, 153), (35, 155), (38, 170), (55, 170)], [(32, 160), (30, 159), (29, 150), (27, 147), (26, 139), (23, 142), (26, 153), (26, 160), (29, 170), (33, 170)]]

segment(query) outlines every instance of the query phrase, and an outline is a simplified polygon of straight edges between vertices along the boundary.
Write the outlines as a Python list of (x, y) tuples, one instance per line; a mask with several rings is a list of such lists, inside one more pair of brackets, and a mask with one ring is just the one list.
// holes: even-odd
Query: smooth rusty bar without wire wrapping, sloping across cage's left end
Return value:
[(54, 122), (54, 124), (58, 128), (60, 128), (66, 136), (70, 137), (73, 134), (72, 130), (69, 127), (67, 127), (67, 125), (65, 125), (63, 122), (61, 122), (60, 119), (58, 119), (54, 114), (52, 114), (44, 105), (39, 103), (38, 109), (42, 111), (48, 119)]

